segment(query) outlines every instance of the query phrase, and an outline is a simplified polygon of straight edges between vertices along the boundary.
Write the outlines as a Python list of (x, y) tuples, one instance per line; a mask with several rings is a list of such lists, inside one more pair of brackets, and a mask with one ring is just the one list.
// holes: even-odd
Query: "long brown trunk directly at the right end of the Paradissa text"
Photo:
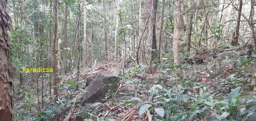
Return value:
[(53, 12), (54, 12), (54, 29), (53, 29), (53, 38), (52, 38), (52, 45), (51, 45), (51, 66), (52, 66), (52, 81), (53, 81), (53, 94), (55, 95), (55, 101), (57, 101), (58, 97), (58, 90), (57, 90), (57, 75), (56, 75), (56, 37), (58, 33), (57, 27), (57, 20), (59, 16), (57, 15), (58, 11), (58, 0), (54, 0), (53, 3)]

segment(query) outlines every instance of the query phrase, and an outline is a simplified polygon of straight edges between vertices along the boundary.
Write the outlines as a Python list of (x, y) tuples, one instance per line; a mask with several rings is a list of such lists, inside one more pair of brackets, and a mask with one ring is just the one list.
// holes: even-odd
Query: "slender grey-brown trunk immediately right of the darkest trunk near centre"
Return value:
[(164, 0), (163, 0), (163, 5), (162, 5), (162, 14), (161, 14), (161, 20), (160, 20), (160, 31), (159, 31), (159, 39), (158, 39), (158, 50), (159, 50), (159, 56), (158, 60), (159, 62), (161, 61), (162, 58), (162, 29), (163, 29), (163, 18), (164, 18)]

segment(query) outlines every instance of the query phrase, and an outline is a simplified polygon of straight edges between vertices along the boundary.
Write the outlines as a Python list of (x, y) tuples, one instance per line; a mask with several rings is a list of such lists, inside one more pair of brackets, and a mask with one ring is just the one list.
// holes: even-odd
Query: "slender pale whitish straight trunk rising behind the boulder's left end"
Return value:
[(86, 15), (86, 11), (87, 11), (87, 8), (86, 8), (86, 3), (85, 3), (85, 6), (84, 6), (84, 54), (83, 54), (83, 67), (85, 67), (87, 65), (87, 44), (88, 44), (88, 40), (87, 40), (87, 30), (86, 30), (86, 18), (87, 18), (87, 15)]

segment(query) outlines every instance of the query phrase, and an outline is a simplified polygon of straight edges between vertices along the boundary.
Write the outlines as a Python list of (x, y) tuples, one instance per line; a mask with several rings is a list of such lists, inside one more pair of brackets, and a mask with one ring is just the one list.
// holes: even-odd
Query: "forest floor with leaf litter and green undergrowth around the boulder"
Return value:
[[(81, 69), (78, 83), (75, 83), (77, 73), (74, 71), (62, 77), (58, 84), (61, 89), (60, 103), (53, 107), (66, 113), (50, 115), (46, 112), (44, 115), (54, 116), (52, 121), (64, 120), (69, 110), (73, 113), (71, 121), (256, 119), (256, 91), (251, 91), (253, 87), (250, 86), (251, 58), (238, 51), (218, 55), (217, 58), (211, 58), (200, 54), (200, 57), (207, 58), (197, 64), (196, 61), (194, 64), (189, 60), (181, 61), (180, 78), (175, 77), (176, 68), (168, 59), (160, 65), (141, 64), (138, 67), (134, 62), (126, 68), (121, 67), (121, 64), (111, 64), (114, 62), (98, 63), (93, 68)], [(120, 77), (118, 91), (107, 92), (104, 103), (99, 106), (93, 106), (92, 103), (80, 106), (88, 77), (102, 72)], [(78, 91), (74, 91), (76, 85)], [(45, 102), (48, 100), (50, 98), (46, 97)], [(69, 108), (66, 110), (63, 107)]]

